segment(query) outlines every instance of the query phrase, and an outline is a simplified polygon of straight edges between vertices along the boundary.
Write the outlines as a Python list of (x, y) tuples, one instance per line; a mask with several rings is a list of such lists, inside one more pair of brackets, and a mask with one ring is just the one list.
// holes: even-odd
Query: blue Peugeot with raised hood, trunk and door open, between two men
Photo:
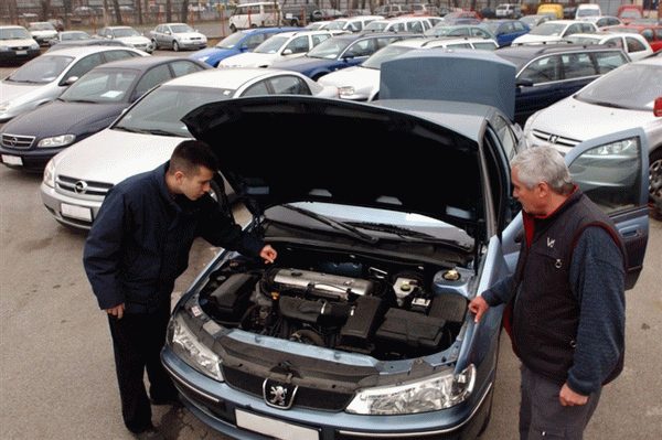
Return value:
[[(433, 52), (409, 52), (383, 73), (417, 94), (428, 89), (410, 77), (433, 78), (439, 92), (439, 84), (467, 85), (413, 60), (429, 53), (425, 62), (434, 65)], [(481, 90), (492, 95), (505, 77), (489, 75), (501, 68), (495, 63), (478, 72), (490, 76)], [(211, 103), (184, 122), (224, 158), (223, 175), (250, 201), (248, 227), (278, 250), (269, 267), (221, 253), (175, 305), (161, 358), (192, 414), (232, 438), (479, 437), (492, 405), (503, 307), (476, 323), (467, 304), (510, 273), (522, 230), (510, 208), (516, 143), (508, 117), (438, 97), (371, 105), (266, 97)], [(282, 127), (300, 128), (302, 139), (333, 154), (321, 165), (307, 142), (273, 148)], [(246, 130), (257, 131), (255, 148), (217, 142)], [(640, 130), (620, 135), (641, 138)], [(621, 139), (592, 140), (566, 160), (573, 169), (599, 167), (596, 149)], [(385, 146), (444, 160), (418, 161), (416, 172), (394, 179), (403, 161)], [(643, 159), (630, 167), (641, 172)], [(645, 198), (642, 180), (637, 190)], [(645, 248), (648, 214), (645, 205), (629, 213), (628, 226), (638, 222), (642, 233), (626, 238), (634, 254)]]

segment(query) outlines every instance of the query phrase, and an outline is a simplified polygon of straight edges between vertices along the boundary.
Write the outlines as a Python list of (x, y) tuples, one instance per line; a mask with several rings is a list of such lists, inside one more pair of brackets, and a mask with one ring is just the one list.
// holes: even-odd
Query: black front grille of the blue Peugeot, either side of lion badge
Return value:
[[(241, 389), (256, 397), (263, 397), (264, 377), (227, 366), (223, 366), (223, 376), (227, 385), (233, 388)], [(300, 386), (297, 389), (293, 407), (338, 412), (342, 411), (350, 404), (352, 397), (353, 395), (348, 393), (334, 393)]]

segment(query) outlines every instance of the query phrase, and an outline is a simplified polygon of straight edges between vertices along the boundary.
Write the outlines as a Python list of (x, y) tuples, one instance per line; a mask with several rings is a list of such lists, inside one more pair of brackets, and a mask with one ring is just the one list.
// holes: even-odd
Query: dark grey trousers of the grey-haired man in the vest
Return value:
[(580, 440), (598, 401), (598, 390), (586, 405), (560, 405), (562, 386), (522, 365), (520, 440)]

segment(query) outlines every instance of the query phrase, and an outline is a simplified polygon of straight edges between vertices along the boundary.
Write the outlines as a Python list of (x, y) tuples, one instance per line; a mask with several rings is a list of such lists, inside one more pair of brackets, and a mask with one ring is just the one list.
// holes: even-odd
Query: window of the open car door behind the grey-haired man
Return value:
[[(608, 214), (639, 205), (641, 181), (639, 138), (587, 150), (570, 164), (573, 181)], [(596, 176), (618, 170), (618, 184), (596, 184)]]

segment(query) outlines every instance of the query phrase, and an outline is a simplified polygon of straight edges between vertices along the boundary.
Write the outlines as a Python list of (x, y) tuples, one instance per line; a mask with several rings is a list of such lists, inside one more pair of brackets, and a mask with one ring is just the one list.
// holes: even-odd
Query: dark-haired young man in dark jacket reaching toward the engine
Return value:
[(183, 141), (169, 162), (108, 192), (85, 244), (85, 271), (100, 309), (108, 313), (124, 421), (138, 438), (162, 438), (152, 426), (150, 400), (163, 405), (178, 398), (160, 352), (170, 296), (186, 269), (193, 240), (200, 236), (265, 262), (277, 256), (259, 237), (245, 234), (211, 197), (217, 169), (206, 143)]

